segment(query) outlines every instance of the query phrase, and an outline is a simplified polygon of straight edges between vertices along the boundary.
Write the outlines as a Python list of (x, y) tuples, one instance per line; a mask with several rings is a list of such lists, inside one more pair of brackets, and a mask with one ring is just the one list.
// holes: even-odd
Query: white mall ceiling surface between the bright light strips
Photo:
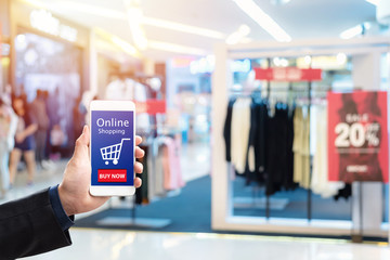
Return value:
[[(367, 21), (375, 21), (375, 5), (365, 0), (291, 0), (274, 5), (271, 0), (255, 0), (287, 34), (295, 39), (337, 38), (342, 30)], [(58, 16), (87, 27), (100, 27), (132, 43), (122, 0), (40, 0)], [(160, 18), (204, 27), (225, 34), (246, 24), (252, 40), (273, 38), (247, 16), (232, 0), (141, 0), (146, 17)], [(96, 15), (96, 10), (103, 12)], [(99, 13), (99, 12), (98, 12)], [(108, 17), (109, 16), (109, 17)], [(200, 48), (212, 53), (218, 39), (143, 25), (146, 38)], [(153, 60), (166, 60), (179, 53), (147, 49), (142, 52)]]

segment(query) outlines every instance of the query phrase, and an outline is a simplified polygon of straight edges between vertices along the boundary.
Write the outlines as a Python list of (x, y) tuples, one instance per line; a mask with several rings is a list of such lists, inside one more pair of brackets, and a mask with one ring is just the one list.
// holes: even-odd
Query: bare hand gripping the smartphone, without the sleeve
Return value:
[[(135, 145), (142, 142), (135, 136)], [(91, 211), (102, 206), (109, 197), (95, 197), (89, 193), (91, 184), (91, 160), (89, 156), (90, 131), (84, 126), (81, 135), (76, 141), (73, 157), (66, 166), (64, 179), (58, 186), (60, 199), (67, 216)], [(135, 157), (142, 158), (144, 151), (135, 147)], [(141, 162), (134, 164), (134, 172), (142, 173)], [(142, 181), (135, 178), (134, 186), (140, 187)]]

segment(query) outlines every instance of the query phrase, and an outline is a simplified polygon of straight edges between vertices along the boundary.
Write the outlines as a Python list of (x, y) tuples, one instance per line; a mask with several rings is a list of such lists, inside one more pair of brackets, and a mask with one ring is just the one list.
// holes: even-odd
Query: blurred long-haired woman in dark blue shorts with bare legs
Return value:
[(24, 95), (14, 96), (12, 106), (18, 117), (18, 121), (15, 133), (15, 146), (11, 152), (10, 158), (10, 183), (13, 185), (15, 182), (17, 164), (21, 161), (23, 154), (27, 165), (27, 184), (31, 185), (36, 171), (34, 133), (37, 131), (38, 125), (34, 114), (28, 109), (27, 100)]

